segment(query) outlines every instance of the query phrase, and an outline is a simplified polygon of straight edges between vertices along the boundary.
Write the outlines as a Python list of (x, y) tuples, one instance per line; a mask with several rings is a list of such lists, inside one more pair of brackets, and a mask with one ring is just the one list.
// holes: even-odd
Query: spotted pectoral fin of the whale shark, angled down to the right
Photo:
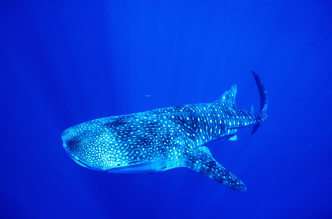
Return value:
[(187, 149), (180, 166), (204, 174), (233, 190), (247, 190), (243, 182), (214, 160), (207, 147), (199, 147), (196, 150)]

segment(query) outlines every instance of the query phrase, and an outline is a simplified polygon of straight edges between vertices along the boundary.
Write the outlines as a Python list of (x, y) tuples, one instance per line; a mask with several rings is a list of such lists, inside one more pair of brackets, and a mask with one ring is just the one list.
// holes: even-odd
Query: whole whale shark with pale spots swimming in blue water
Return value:
[(246, 186), (212, 157), (205, 146), (236, 140), (236, 132), (267, 118), (268, 97), (252, 72), (260, 94), (260, 111), (237, 109), (237, 85), (209, 104), (188, 104), (99, 118), (67, 128), (63, 147), (79, 165), (103, 173), (156, 173), (187, 167), (236, 191)]

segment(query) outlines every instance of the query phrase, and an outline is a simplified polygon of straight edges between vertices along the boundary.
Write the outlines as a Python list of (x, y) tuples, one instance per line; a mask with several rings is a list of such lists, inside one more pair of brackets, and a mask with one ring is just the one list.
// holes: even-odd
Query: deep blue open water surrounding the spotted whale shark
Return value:
[[(1, 218), (331, 217), (331, 2), (45, 2), (0, 3)], [(251, 70), (268, 119), (207, 145), (246, 192), (187, 168), (101, 174), (62, 147), (72, 125), (234, 83), (257, 111)]]

